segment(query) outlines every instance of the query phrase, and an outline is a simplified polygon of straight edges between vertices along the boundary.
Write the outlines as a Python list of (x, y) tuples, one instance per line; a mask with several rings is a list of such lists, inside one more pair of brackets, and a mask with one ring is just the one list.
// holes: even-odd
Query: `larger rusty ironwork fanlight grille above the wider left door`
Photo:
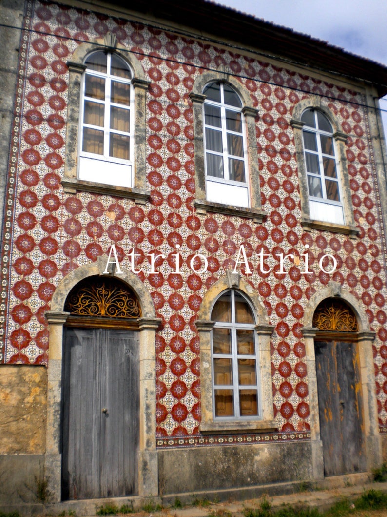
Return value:
[(65, 311), (70, 312), (72, 316), (141, 316), (135, 294), (127, 285), (109, 277), (91, 277), (75, 285), (67, 297)]

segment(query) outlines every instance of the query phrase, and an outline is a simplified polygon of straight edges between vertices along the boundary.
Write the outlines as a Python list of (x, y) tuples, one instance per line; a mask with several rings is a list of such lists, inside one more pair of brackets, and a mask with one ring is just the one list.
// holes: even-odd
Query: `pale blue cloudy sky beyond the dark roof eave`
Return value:
[[(387, 66), (387, 0), (216, 0)], [(387, 97), (380, 100), (387, 134)]]

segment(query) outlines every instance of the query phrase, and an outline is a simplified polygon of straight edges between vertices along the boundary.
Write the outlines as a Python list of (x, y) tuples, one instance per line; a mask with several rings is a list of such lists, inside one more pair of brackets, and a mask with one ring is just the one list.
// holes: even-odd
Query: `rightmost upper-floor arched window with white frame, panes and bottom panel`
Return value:
[(336, 158), (334, 131), (319, 110), (301, 115), (302, 141), (307, 170), (309, 210), (314, 220), (344, 224), (343, 199)]

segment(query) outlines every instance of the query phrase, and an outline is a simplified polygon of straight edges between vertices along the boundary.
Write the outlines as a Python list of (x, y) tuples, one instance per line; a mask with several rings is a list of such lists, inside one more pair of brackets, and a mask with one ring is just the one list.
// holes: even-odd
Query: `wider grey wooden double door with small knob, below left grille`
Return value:
[(137, 492), (138, 333), (65, 328), (62, 498)]

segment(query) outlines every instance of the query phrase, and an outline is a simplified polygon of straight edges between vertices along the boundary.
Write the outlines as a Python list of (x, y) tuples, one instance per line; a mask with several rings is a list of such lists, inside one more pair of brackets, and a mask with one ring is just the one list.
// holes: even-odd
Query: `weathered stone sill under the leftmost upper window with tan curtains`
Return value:
[(96, 194), (106, 194), (117, 197), (127, 197), (142, 205), (146, 204), (150, 197), (150, 192), (136, 188), (118, 187), (116, 185), (106, 185), (103, 183), (93, 183), (77, 178), (63, 178), (62, 187), (65, 192), (75, 194), (76, 191), (94, 192)]

